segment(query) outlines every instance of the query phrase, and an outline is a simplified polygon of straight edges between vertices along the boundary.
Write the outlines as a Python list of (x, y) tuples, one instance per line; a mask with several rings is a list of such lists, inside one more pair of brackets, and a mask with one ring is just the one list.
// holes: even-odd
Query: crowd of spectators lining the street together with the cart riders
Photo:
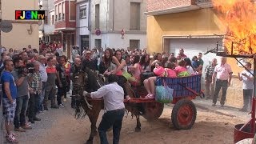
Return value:
[[(202, 53), (198, 53), (190, 60), (183, 49), (180, 49), (177, 55), (165, 52), (150, 55), (146, 53), (146, 49), (89, 50), (86, 48), (80, 52), (78, 46), (73, 46), (69, 61), (66, 56), (58, 52), (58, 49), (62, 49), (60, 44), (55, 48), (41, 45), (40, 54), (31, 46), (19, 52), (14, 52), (12, 49), (8, 52), (2, 50), (0, 61), (2, 106), (6, 119), (6, 139), (9, 142), (18, 142), (16, 134), (11, 131), (11, 125), (14, 124), (14, 130), (19, 132), (32, 129), (31, 123), (41, 120), (37, 114), (49, 110), (49, 100), (52, 109), (65, 106), (66, 95), (70, 91), (70, 81), (74, 79), (74, 74), (78, 70), (98, 71), (106, 77), (115, 75), (118, 85), (123, 89), (124, 98), (129, 101), (126, 82), (131, 86), (144, 85), (148, 93), (145, 98), (154, 98), (154, 83), (157, 77), (175, 78), (202, 74), (204, 64)], [(143, 74), (151, 75), (143, 78)], [(230, 85), (232, 76), (226, 58), (222, 58), (219, 65), (214, 58), (211, 64), (206, 66), (205, 74), (206, 97), (213, 98), (213, 106), (215, 106), (218, 92), (222, 88), (221, 106), (223, 106), (226, 89)], [(246, 80), (244, 77), (250, 80), (251, 77), (248, 76), (250, 74), (246, 74), (242, 72), (240, 80)], [(217, 85), (214, 89), (215, 78)], [(251, 91), (246, 90), (245, 93), (248, 95)], [(75, 108), (74, 98), (71, 98), (71, 107)]]

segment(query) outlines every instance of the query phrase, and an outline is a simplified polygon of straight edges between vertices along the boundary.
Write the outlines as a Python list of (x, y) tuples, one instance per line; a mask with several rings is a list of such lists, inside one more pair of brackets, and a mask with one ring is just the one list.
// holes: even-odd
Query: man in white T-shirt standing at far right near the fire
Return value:
[(243, 90), (243, 106), (240, 111), (247, 111), (251, 107), (253, 89), (254, 89), (254, 70), (251, 69), (250, 62), (246, 62), (246, 69), (243, 70), (241, 74), (238, 73), (239, 80), (242, 81)]

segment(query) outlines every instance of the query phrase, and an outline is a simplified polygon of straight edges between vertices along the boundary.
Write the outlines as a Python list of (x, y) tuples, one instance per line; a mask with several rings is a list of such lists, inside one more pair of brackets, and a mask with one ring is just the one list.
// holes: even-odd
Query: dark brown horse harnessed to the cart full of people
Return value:
[[(98, 119), (98, 115), (102, 109), (104, 109), (103, 99), (91, 99), (85, 98), (83, 96), (83, 92), (93, 92), (98, 90), (102, 85), (103, 76), (100, 74), (94, 74), (91, 70), (80, 70), (78, 73), (74, 74), (74, 97), (76, 99), (76, 108), (75, 108), (75, 117), (76, 118), (84, 118), (88, 115), (90, 119), (90, 137), (86, 141), (87, 144), (93, 143), (94, 136), (98, 134), (96, 122)], [(130, 94), (131, 98), (134, 98), (134, 93), (131, 89), (128, 89), (128, 94)], [(128, 112), (130, 111), (132, 116), (136, 117), (137, 126), (135, 127), (135, 131), (141, 130), (141, 123), (139, 120), (139, 115), (142, 113), (139, 110), (139, 106), (136, 104), (126, 102), (126, 117)]]

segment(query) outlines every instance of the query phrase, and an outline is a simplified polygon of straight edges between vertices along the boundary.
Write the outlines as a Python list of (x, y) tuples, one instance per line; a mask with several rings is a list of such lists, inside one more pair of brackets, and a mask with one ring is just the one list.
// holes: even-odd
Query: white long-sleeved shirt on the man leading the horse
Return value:
[(91, 98), (102, 98), (104, 99), (105, 110), (118, 110), (124, 109), (125, 105), (124, 92), (121, 86), (117, 82), (110, 83), (102, 86), (95, 92), (90, 93)]

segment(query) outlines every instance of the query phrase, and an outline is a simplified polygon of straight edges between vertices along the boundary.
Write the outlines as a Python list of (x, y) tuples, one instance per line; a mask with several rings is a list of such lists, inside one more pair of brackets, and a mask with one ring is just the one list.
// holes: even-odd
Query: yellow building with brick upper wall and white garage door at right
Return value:
[[(218, 35), (226, 34), (226, 24), (218, 18), (210, 0), (149, 0), (146, 14), (147, 50), (150, 53), (166, 51), (177, 55), (179, 49), (183, 48), (191, 59), (198, 52), (205, 53), (216, 48), (217, 42), (222, 45), (223, 39)], [(213, 58), (220, 63), (216, 54), (203, 54), (204, 68)], [(237, 74), (243, 68), (238, 66), (234, 58), (228, 58), (227, 63), (233, 70), (233, 78), (226, 102), (241, 107), (242, 82)]]

